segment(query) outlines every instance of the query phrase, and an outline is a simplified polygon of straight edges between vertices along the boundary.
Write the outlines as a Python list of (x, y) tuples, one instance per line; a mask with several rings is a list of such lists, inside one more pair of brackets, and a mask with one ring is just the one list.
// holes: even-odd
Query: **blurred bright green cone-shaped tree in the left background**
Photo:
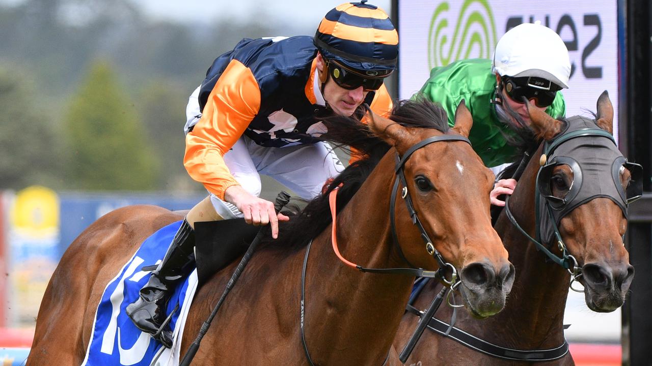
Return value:
[(69, 188), (151, 190), (156, 160), (133, 104), (108, 63), (91, 68), (65, 118)]

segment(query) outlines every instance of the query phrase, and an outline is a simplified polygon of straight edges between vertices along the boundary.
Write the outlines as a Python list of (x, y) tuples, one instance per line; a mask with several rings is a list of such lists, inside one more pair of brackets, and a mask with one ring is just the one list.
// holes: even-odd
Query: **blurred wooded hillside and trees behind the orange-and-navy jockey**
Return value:
[(201, 190), (183, 168), (190, 92), (241, 38), (311, 31), (153, 21), (127, 0), (0, 5), (0, 190)]

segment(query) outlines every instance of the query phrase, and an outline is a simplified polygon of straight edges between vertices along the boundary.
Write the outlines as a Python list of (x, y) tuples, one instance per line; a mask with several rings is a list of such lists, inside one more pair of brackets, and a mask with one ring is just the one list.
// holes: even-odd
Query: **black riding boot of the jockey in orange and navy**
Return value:
[(140, 297), (126, 307), (126, 314), (141, 331), (155, 335), (162, 345), (172, 346), (172, 332), (162, 330), (171, 290), (194, 269), (195, 233), (185, 219), (175, 234), (168, 252), (152, 272)]

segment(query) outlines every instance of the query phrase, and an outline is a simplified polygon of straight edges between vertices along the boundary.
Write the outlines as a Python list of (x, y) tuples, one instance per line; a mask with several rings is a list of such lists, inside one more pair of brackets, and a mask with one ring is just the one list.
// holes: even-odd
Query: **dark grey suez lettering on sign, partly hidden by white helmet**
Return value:
[[(511, 18), (507, 19), (507, 25), (505, 25), (505, 32), (509, 31), (509, 29), (512, 29), (513, 27), (516, 27), (516, 25), (519, 25), (520, 23), (523, 23), (523, 16), (512, 16)], [(600, 23), (600, 16), (599, 14), (584, 14), (584, 27), (595, 27), (597, 30), (595, 32), (595, 36), (584, 46), (584, 49), (582, 49), (582, 61), (580, 62), (580, 66), (582, 66), (582, 74), (584, 74), (584, 77), (587, 79), (601, 79), (602, 78), (602, 66), (589, 66), (587, 65), (587, 60), (589, 57), (591, 57), (591, 53), (595, 51), (596, 48), (600, 45), (600, 40), (602, 40), (602, 24)], [(529, 17), (529, 22), (533, 23), (534, 17), (530, 16)], [(546, 15), (546, 18), (544, 22), (542, 22), (543, 25), (546, 27), (554, 30), (557, 35), (562, 35), (563, 37), (561, 38), (564, 43), (566, 44), (566, 48), (568, 48), (569, 53), (572, 54), (574, 51), (578, 51), (579, 47), (579, 42), (578, 42), (578, 29), (577, 26), (575, 25), (575, 21), (569, 14), (564, 14), (559, 18), (559, 21), (557, 22), (556, 27), (552, 27), (550, 25), (550, 16)], [(588, 31), (588, 29), (582, 29), (582, 31)], [(565, 29), (569, 29), (572, 34), (572, 38), (569, 40), (567, 37), (565, 37), (566, 33), (564, 32)], [(574, 61), (571, 59), (571, 77), (576, 71), (576, 64)]]

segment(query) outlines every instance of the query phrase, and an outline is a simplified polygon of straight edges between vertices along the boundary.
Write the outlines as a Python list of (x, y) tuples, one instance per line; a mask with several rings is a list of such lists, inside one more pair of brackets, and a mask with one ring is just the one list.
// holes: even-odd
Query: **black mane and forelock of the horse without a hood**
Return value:
[[(389, 118), (409, 128), (449, 130), (446, 111), (424, 98), (396, 102)], [(283, 247), (303, 247), (324, 231), (331, 224), (329, 193), (342, 184), (337, 195), (337, 209), (342, 210), (391, 147), (355, 117), (331, 115), (323, 119), (323, 123), (329, 130), (323, 139), (355, 149), (360, 159), (336, 176), (300, 214), (281, 223), (279, 238), (274, 242), (282, 243)]]

